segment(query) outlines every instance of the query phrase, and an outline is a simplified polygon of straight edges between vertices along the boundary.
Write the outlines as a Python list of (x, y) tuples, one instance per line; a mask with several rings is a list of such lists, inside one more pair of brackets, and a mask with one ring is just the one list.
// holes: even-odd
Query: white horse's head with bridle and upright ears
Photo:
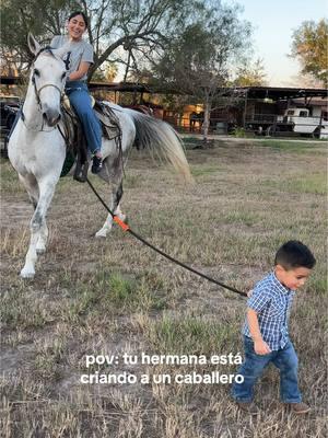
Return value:
[(42, 48), (31, 34), (27, 43), (35, 55), (30, 85), (34, 88), (45, 123), (48, 126), (56, 126), (61, 117), (60, 99), (67, 78), (66, 64), (61, 57), (68, 51), (68, 47)]

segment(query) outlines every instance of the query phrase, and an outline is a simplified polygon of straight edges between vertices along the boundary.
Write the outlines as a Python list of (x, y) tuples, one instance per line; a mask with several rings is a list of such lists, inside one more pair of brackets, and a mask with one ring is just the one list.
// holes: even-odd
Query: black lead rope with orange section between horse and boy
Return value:
[[(110, 211), (110, 209), (107, 207), (107, 205), (105, 204), (105, 201), (103, 200), (103, 198), (99, 196), (99, 194), (97, 193), (97, 191), (94, 188), (94, 186), (91, 184), (90, 180), (86, 178), (87, 184), (90, 185), (91, 189), (93, 191), (93, 193), (96, 195), (96, 197), (99, 199), (99, 201), (103, 204), (103, 206), (106, 208), (106, 210), (109, 212), (109, 215), (113, 217), (113, 219), (121, 226), (121, 221), (117, 218), (116, 215), (114, 215), (113, 211)], [(121, 227), (122, 228), (122, 227)], [(144, 245), (149, 246), (150, 249), (152, 249), (153, 251), (155, 251), (156, 253), (161, 254), (163, 257), (169, 260), (171, 262), (177, 264), (178, 266), (181, 266), (183, 268), (190, 270), (190, 273), (194, 273), (196, 275), (198, 275), (199, 277), (202, 277), (204, 279), (207, 279), (208, 281), (214, 283), (218, 286), (221, 286), (224, 289), (231, 290), (234, 293), (238, 293), (243, 297), (247, 297), (247, 293), (242, 292), (238, 289), (235, 289), (232, 286), (227, 286), (224, 285), (221, 281), (215, 280), (214, 278), (209, 277), (208, 275), (194, 269), (194, 267), (186, 265), (183, 262), (177, 261), (176, 258), (172, 257), (171, 255), (164, 253), (162, 250), (159, 250), (156, 246), (152, 245), (151, 243), (149, 243), (145, 239), (143, 239), (141, 235), (139, 235), (138, 233), (136, 233), (134, 231), (132, 231), (128, 226), (124, 227), (125, 231), (128, 231), (130, 234), (132, 234), (137, 240), (139, 240), (140, 242), (142, 242)]]

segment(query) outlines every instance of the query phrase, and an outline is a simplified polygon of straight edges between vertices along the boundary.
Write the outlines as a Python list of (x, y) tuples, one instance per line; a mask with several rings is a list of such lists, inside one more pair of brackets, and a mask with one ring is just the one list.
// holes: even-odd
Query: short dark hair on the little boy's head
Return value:
[(284, 243), (276, 254), (274, 265), (281, 265), (284, 269), (307, 267), (312, 269), (316, 260), (309, 249), (297, 240)]

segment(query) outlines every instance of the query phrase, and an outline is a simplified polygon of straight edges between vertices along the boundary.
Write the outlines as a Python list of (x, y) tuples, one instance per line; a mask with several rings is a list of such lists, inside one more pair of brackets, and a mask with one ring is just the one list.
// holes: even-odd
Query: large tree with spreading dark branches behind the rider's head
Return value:
[(1, 57), (27, 66), (32, 60), (26, 45), (28, 31), (42, 44), (49, 43), (55, 34), (63, 32), (70, 11), (83, 10), (90, 18), (87, 35), (95, 49), (89, 79), (106, 61), (125, 62), (129, 69), (138, 53), (148, 58), (162, 49), (191, 16), (197, 3), (198, 0), (4, 0)]

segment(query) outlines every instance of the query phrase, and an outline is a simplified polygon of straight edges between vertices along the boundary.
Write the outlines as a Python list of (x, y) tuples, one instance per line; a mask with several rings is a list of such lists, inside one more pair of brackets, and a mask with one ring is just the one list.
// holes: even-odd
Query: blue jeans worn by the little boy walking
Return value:
[(297, 356), (291, 341), (286, 345), (268, 355), (257, 355), (254, 342), (244, 336), (245, 360), (237, 373), (244, 377), (243, 383), (234, 383), (232, 396), (238, 402), (251, 402), (253, 389), (265, 367), (272, 362), (280, 369), (280, 396), (283, 403), (301, 403), (302, 397), (297, 384)]

